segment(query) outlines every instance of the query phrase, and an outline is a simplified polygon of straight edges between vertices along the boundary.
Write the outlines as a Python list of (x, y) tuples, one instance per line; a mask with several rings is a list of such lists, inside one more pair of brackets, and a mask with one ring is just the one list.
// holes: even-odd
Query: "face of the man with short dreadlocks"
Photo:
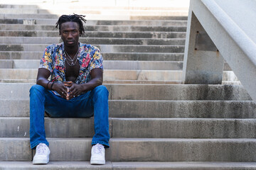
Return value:
[(65, 22), (60, 25), (60, 35), (66, 47), (75, 47), (79, 40), (79, 25), (75, 22)]

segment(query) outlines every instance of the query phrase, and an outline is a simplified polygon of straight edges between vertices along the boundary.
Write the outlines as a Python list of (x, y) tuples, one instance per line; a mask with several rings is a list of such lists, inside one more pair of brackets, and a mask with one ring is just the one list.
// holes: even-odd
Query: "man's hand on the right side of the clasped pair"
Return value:
[(85, 91), (82, 84), (75, 84), (72, 81), (65, 81), (63, 83), (68, 87), (67, 100), (70, 100)]

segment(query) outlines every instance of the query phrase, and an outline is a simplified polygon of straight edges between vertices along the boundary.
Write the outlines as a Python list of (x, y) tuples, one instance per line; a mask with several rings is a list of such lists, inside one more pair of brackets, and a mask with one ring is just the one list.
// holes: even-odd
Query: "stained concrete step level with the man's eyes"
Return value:
[[(0, 30), (3, 37), (60, 37), (58, 30)], [(86, 31), (86, 38), (186, 38), (183, 32)]]

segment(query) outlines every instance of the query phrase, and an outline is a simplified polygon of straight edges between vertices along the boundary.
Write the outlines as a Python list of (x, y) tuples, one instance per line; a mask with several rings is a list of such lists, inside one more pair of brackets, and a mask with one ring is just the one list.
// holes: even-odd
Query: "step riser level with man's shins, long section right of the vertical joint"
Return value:
[(112, 118), (112, 137), (255, 138), (255, 119)]

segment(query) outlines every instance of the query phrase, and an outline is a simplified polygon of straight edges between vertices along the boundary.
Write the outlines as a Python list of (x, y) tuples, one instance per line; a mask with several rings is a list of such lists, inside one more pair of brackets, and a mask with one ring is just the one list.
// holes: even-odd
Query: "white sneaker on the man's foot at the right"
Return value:
[(92, 146), (90, 164), (105, 164), (105, 148), (103, 145), (97, 143), (97, 145)]

